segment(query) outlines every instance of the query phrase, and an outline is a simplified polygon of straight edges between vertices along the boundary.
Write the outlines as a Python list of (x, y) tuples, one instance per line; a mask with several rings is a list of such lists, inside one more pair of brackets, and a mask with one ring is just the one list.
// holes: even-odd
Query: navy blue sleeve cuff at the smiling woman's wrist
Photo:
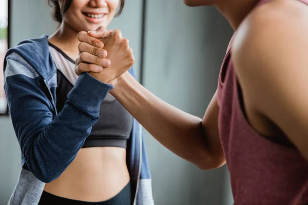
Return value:
[(107, 93), (113, 88), (112, 85), (102, 83), (89, 73), (82, 73), (67, 98), (78, 107), (98, 112)]

